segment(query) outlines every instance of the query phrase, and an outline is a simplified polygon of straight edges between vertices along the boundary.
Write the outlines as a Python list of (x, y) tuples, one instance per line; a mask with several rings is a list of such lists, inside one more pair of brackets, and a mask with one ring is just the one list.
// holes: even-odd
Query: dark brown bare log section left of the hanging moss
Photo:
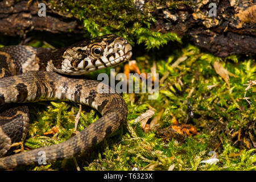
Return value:
[(83, 26), (69, 14), (57, 13), (46, 7), (46, 16), (38, 16), (36, 1), (0, 1), (0, 35), (25, 35), (30, 31), (52, 33), (83, 32)]

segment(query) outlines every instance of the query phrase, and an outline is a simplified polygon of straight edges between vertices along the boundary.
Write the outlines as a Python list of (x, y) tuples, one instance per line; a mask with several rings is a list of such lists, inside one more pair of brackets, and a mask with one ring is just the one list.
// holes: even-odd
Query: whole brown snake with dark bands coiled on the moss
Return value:
[[(125, 100), (109, 85), (82, 75), (129, 60), (131, 49), (117, 35), (98, 36), (67, 48), (0, 48), (0, 169), (39, 165), (42, 151), (47, 164), (73, 158), (121, 127), (128, 112)], [(12, 144), (26, 139), (30, 120), (26, 102), (45, 100), (88, 105), (102, 117), (64, 142), (8, 155)]]

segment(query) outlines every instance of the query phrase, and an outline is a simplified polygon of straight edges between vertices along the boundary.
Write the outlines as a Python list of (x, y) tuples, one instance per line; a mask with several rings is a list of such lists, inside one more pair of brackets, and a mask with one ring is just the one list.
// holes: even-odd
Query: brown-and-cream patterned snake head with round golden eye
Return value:
[(131, 45), (126, 39), (117, 35), (104, 35), (65, 49), (61, 69), (56, 71), (68, 75), (82, 75), (121, 64), (129, 60), (131, 55)]

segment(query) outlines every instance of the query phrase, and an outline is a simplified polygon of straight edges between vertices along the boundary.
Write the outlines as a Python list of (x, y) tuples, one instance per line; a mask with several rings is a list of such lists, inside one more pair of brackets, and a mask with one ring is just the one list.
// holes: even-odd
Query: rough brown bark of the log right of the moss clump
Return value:
[[(216, 3), (217, 16), (209, 16), (209, 4)], [(154, 12), (158, 21), (152, 30), (172, 31), (216, 56), (256, 54), (256, 3), (253, 0), (196, 0), (177, 9)]]

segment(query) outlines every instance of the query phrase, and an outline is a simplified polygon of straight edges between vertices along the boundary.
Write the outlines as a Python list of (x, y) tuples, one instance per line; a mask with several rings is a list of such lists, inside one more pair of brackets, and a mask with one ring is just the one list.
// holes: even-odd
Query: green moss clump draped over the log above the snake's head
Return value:
[[(164, 5), (163, 1), (159, 5)], [(179, 2), (187, 3), (185, 1)], [(176, 6), (173, 3), (170, 6)], [(60, 10), (61, 14), (67, 11), (84, 23), (88, 32), (86, 37), (96, 37), (105, 34), (123, 36), (134, 45), (143, 43), (147, 49), (159, 48), (169, 41), (181, 43), (181, 39), (174, 33), (161, 34), (150, 31), (150, 25), (155, 22), (150, 11), (156, 9), (154, 2), (147, 2), (143, 10), (135, 9), (133, 1), (50, 1), (50, 6)]]

